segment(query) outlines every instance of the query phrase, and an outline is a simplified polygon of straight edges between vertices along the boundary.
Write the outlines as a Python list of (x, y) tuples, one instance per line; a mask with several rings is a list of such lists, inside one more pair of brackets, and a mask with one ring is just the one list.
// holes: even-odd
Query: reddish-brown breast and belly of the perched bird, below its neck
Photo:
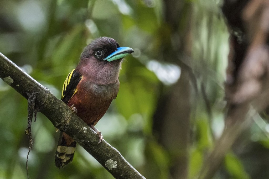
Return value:
[(119, 81), (114, 84), (98, 85), (82, 78), (68, 106), (75, 105), (77, 116), (86, 124), (95, 125), (104, 116), (118, 91)]

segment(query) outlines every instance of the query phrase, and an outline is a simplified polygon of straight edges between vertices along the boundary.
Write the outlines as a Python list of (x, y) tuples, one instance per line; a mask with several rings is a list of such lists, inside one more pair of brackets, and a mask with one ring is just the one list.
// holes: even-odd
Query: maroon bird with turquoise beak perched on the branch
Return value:
[[(123, 58), (133, 52), (113, 38), (98, 37), (83, 49), (77, 67), (63, 83), (61, 100), (97, 133), (98, 144), (104, 138), (94, 126), (117, 97)], [(55, 153), (57, 168), (72, 162), (75, 147), (76, 141), (61, 131)]]

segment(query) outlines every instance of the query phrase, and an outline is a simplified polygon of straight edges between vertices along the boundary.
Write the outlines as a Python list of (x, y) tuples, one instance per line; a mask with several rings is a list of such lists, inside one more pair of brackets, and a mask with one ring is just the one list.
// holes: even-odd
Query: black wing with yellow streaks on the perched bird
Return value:
[(78, 73), (75, 69), (73, 69), (69, 75), (66, 77), (65, 82), (63, 83), (62, 90), (62, 101), (66, 104), (73, 97), (73, 95), (77, 92), (77, 84), (82, 79), (82, 75)]

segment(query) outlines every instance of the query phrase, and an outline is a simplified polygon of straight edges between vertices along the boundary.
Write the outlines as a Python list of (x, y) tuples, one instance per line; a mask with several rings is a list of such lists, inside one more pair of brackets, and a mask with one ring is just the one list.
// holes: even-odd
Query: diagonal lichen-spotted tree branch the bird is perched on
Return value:
[[(75, 139), (115, 178), (144, 178), (131, 166), (114, 147), (106, 141), (97, 145), (96, 133), (68, 106), (57, 99), (47, 88), (21, 70), (12, 61), (0, 53), (0, 77), (17, 92), (28, 99), (27, 92), (36, 94), (36, 108), (51, 123)], [(54, 156), (51, 156), (54, 157)]]

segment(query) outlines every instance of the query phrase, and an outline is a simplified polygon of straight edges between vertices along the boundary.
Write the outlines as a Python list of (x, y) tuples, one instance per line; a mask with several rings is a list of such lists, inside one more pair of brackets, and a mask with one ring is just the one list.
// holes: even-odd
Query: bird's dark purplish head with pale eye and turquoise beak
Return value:
[(99, 37), (83, 49), (77, 70), (95, 83), (114, 83), (118, 80), (122, 59), (133, 52), (132, 48), (120, 47), (113, 38)]

